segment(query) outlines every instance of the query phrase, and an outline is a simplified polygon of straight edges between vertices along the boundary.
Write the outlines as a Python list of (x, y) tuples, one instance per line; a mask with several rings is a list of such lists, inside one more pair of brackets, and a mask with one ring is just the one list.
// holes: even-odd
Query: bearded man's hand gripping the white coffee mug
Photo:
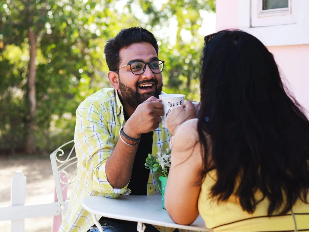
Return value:
[(132, 138), (139, 138), (141, 134), (154, 131), (159, 127), (164, 115), (161, 99), (150, 97), (140, 104), (129, 120), (125, 123), (123, 131)]

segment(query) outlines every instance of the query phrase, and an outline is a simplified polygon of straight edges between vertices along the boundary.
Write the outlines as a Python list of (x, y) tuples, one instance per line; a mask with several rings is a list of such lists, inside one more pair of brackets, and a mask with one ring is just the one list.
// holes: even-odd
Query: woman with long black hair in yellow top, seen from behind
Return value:
[(201, 214), (220, 232), (309, 231), (309, 122), (273, 55), (246, 32), (214, 33), (200, 82), (197, 118), (186, 102), (167, 119), (172, 220)]

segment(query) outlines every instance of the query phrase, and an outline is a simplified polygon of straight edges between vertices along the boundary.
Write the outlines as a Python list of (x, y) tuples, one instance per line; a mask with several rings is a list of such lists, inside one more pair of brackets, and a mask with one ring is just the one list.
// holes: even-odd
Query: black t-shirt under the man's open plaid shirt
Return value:
[[(129, 116), (124, 111), (125, 120)], [(152, 152), (152, 136), (153, 132), (141, 135), (141, 141), (138, 144), (138, 149), (134, 158), (131, 179), (128, 188), (131, 190), (130, 195), (147, 195), (147, 181), (149, 178), (149, 169), (145, 168), (145, 162), (148, 154)]]

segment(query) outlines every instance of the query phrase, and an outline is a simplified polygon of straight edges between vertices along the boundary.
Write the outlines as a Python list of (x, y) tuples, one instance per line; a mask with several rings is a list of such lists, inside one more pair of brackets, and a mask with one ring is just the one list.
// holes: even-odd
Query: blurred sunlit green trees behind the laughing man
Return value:
[(122, 28), (153, 32), (163, 91), (199, 100), (214, 0), (0, 0), (0, 155), (47, 156), (74, 138), (75, 110), (110, 87), (104, 44)]

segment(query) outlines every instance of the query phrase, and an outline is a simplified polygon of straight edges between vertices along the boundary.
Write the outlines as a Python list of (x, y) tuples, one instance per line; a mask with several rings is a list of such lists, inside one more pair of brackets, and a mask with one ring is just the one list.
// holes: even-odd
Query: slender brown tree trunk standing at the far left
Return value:
[(25, 152), (27, 154), (33, 154), (36, 150), (34, 138), (34, 127), (36, 125), (36, 35), (32, 28), (29, 30), (28, 39), (30, 44), (29, 73), (27, 81), (29, 115)]

